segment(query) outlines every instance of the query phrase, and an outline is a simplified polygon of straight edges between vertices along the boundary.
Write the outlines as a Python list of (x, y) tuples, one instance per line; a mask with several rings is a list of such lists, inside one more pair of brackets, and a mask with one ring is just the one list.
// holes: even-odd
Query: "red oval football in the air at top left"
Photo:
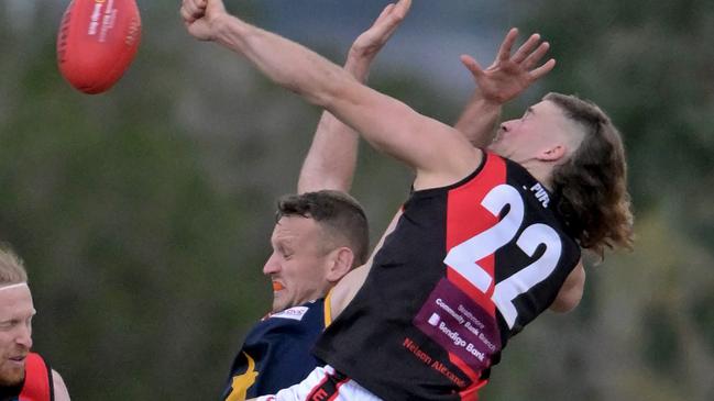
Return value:
[(85, 93), (111, 88), (141, 40), (136, 0), (73, 0), (57, 33), (59, 71)]

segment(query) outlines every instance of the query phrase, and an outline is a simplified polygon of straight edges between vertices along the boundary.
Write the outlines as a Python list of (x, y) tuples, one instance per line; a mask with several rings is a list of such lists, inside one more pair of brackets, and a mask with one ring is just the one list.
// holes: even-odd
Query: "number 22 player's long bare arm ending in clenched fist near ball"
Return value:
[[(400, 0), (395, 7), (409, 4)], [(220, 0), (184, 0), (182, 15), (195, 37), (242, 54), (267, 78), (329, 110), (373, 147), (411, 166), (416, 189), (455, 182), (481, 163), (481, 152), (453, 127), (365, 87), (316, 53), (228, 14)]]

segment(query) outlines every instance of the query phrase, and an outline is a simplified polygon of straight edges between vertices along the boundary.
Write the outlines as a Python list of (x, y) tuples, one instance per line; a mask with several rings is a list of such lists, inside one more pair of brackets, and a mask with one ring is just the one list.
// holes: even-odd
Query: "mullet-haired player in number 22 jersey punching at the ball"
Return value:
[[(493, 142), (466, 140), (220, 0), (184, 0), (182, 16), (416, 172), (380, 250), (331, 292), (333, 322), (315, 348), (328, 365), (260, 400), (475, 400), (509, 337), (547, 308), (578, 304), (580, 248), (631, 245), (622, 138), (596, 105), (550, 93)], [(485, 70), (462, 62), (479, 81), (531, 68), (539, 51), (527, 53), (499, 52)], [(479, 120), (499, 98), (477, 102)]]

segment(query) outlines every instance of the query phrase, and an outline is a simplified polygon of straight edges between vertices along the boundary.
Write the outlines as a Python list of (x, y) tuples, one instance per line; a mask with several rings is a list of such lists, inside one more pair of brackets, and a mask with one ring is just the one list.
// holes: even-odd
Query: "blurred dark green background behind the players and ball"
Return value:
[[(229, 1), (337, 63), (386, 1)], [(75, 400), (216, 400), (246, 330), (277, 196), (319, 110), (140, 0), (143, 37), (109, 92), (59, 76), (66, 1), (0, 2), (0, 241), (25, 259), (35, 349)], [(509, 105), (578, 93), (620, 127), (636, 250), (589, 267), (581, 307), (517, 336), (484, 400), (714, 400), (714, 2), (415, 0), (371, 85), (453, 122), (510, 25), (558, 67)], [(354, 191), (376, 238), (410, 172), (362, 148)]]

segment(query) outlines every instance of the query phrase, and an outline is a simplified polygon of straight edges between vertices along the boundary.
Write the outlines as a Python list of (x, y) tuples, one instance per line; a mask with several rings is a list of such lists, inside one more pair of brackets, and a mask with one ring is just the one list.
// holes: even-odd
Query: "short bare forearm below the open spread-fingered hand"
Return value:
[(454, 127), (475, 147), (486, 147), (493, 141), (501, 119), (502, 104), (477, 93), (469, 101)]

